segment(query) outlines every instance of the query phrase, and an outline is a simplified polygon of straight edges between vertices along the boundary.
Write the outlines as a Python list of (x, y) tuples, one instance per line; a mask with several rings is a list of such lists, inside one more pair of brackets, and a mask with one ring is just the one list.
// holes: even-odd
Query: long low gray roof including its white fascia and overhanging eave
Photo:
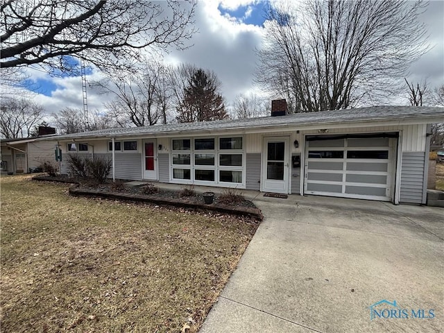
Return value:
[(215, 133), (230, 135), (267, 133), (272, 131), (317, 130), (319, 128), (402, 126), (438, 122), (444, 122), (444, 108), (385, 106), (315, 112), (311, 114), (289, 114), (280, 117), (98, 130), (51, 138), (47, 137), (44, 139), (56, 139), (59, 142), (80, 142), (86, 139), (137, 139), (180, 137), (184, 135), (200, 136)]

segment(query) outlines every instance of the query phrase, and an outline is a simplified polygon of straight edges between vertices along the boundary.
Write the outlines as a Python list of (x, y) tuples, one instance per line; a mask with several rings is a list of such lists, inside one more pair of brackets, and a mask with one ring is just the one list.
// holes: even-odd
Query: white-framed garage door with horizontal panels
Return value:
[(395, 137), (307, 137), (305, 194), (390, 201), (397, 142)]

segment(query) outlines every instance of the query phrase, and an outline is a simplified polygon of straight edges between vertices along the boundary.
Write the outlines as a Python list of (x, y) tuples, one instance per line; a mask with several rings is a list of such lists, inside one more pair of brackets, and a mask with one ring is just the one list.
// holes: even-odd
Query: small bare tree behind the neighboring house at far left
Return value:
[(33, 126), (44, 117), (43, 106), (28, 99), (3, 98), (0, 130), (5, 139), (30, 137)]

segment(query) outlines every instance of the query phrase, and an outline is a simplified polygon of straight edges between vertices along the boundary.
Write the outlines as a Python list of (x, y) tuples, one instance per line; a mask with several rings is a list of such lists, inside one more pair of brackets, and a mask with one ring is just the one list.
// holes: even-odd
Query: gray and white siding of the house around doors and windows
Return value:
[[(398, 132), (400, 131), (400, 175), (398, 178), (398, 188), (400, 189), (400, 201), (406, 203), (421, 203), (422, 190), (420, 184), (424, 181), (425, 171), (425, 148), (427, 142), (427, 126), (426, 125), (400, 125), (400, 126), (373, 126), (373, 127), (357, 127), (357, 128), (330, 128), (329, 135), (339, 133), (381, 133), (381, 132)], [(259, 190), (260, 180), (262, 177), (262, 150), (264, 137), (289, 137), (289, 156), (300, 155), (301, 163), (303, 163), (303, 151), (305, 148), (304, 135), (317, 134), (317, 130), (300, 130), (300, 133), (295, 130), (287, 130), (285, 132), (270, 132), (270, 133), (248, 133), (238, 134), (244, 137), (244, 162), (245, 162), (245, 186), (246, 189)], [(236, 134), (232, 134), (235, 136)], [(224, 135), (205, 135), (205, 137), (221, 137)], [(177, 134), (174, 137), (179, 138)], [(203, 137), (201, 135), (181, 135), (183, 138)], [(132, 139), (117, 139), (116, 141), (130, 141)], [(88, 143), (94, 146), (94, 154), (106, 155), (112, 157), (112, 153), (108, 151), (108, 142), (110, 139), (91, 140), (90, 142), (78, 141), (79, 143)], [(129, 180), (142, 180), (143, 166), (143, 139), (137, 139), (137, 151), (116, 151), (115, 152), (115, 177)], [(299, 146), (295, 147), (295, 141), (298, 141)], [(171, 137), (157, 137), (157, 147), (162, 145), (162, 148), (157, 151), (157, 169), (158, 179), (160, 182), (170, 182), (171, 173)], [(51, 154), (53, 149), (51, 149)], [(67, 143), (62, 143), (62, 151), (64, 152), (64, 162), (66, 164)], [(83, 155), (91, 156), (92, 147), (89, 147), (87, 153)], [(421, 164), (422, 161), (422, 164)], [(290, 160), (291, 163), (291, 160)], [(422, 165), (422, 169), (420, 167)], [(413, 170), (414, 169), (414, 170)], [(66, 165), (63, 165), (62, 171), (67, 171)], [(412, 175), (411, 173), (415, 173)], [(304, 181), (300, 175), (300, 168), (290, 168), (290, 191), (292, 194), (299, 194), (302, 187), (301, 182)], [(172, 181), (174, 182), (174, 181)], [(217, 186), (217, 185), (216, 185)], [(221, 186), (221, 185), (219, 185)]]

